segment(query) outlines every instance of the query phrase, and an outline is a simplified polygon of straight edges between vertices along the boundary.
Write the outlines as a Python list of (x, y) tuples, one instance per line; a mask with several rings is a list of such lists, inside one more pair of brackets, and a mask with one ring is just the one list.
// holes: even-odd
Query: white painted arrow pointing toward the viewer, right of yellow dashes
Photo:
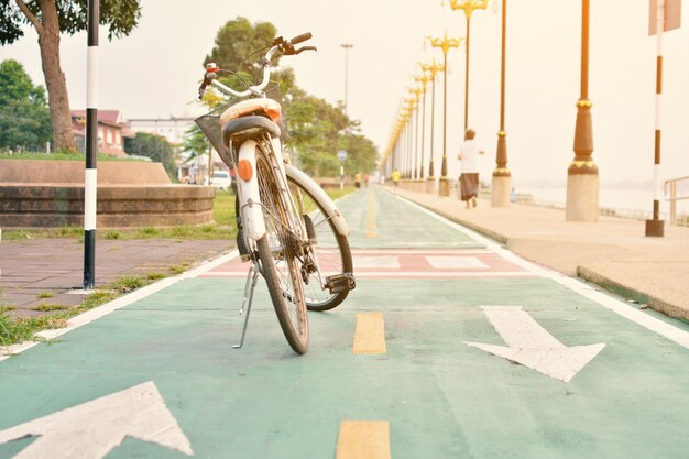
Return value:
[(605, 345), (568, 348), (548, 334), (522, 306), (481, 306), (508, 347), (467, 342), (494, 356), (569, 382)]

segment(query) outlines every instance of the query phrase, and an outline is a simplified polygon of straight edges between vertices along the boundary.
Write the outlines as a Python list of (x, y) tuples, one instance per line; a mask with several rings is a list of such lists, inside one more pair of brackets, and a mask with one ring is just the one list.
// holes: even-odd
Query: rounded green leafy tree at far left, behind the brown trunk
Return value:
[(0, 147), (39, 150), (51, 139), (45, 92), (17, 61), (0, 63)]

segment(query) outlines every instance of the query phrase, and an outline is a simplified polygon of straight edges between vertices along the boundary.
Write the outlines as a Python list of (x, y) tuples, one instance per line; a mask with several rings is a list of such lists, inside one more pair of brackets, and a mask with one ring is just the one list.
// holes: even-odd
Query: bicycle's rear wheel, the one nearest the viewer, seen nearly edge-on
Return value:
[(269, 155), (256, 147), (256, 175), (266, 234), (256, 242), (261, 274), (265, 280), (280, 326), (292, 349), (299, 354), (308, 350), (308, 315), (304, 299), (300, 263), (285, 228), (291, 228), (287, 210), (271, 172)]

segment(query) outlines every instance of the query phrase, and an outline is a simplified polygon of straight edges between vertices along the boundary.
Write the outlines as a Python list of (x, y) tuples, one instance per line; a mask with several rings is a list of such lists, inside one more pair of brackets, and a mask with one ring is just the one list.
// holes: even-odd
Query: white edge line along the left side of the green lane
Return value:
[[(105, 317), (114, 310), (121, 309), (125, 306), (131, 305), (132, 303), (135, 303), (140, 299), (151, 296), (154, 293), (157, 293), (172, 285), (175, 285), (179, 281), (184, 281), (185, 278), (198, 277), (203, 274), (206, 274), (208, 273), (208, 271), (217, 266), (220, 266), (225, 263), (228, 263), (232, 261), (233, 259), (236, 259), (237, 256), (239, 256), (239, 251), (233, 250), (232, 252), (218, 256), (217, 259), (211, 260), (207, 263), (204, 263), (203, 265), (195, 267), (194, 270), (187, 271), (174, 277), (163, 278), (162, 281), (158, 281), (154, 284), (146, 285), (145, 287), (139, 288), (138, 291), (134, 291), (128, 295), (120, 296), (117, 299), (113, 299), (103, 305), (95, 307), (94, 309), (87, 310), (86, 313), (79, 314), (78, 316), (75, 316), (67, 321), (67, 327), (58, 328), (55, 330), (44, 330), (44, 331), (36, 334), (36, 337), (39, 337), (40, 339), (44, 339), (46, 341), (55, 339), (58, 336), (68, 334), (69, 331), (74, 329), (77, 329), (81, 326), (85, 326), (86, 324), (90, 324), (94, 320)], [(244, 276), (247, 273), (244, 273)], [(12, 354), (23, 352), (26, 349), (33, 348), (36, 345), (39, 345), (39, 342), (36, 341), (24, 341), (20, 345), (1, 347), (0, 348), (0, 362), (4, 359), (8, 359)]]

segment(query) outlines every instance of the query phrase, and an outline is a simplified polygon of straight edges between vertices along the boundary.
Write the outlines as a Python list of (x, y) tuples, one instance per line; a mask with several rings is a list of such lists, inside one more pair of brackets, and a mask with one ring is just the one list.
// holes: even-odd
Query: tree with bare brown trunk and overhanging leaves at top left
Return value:
[[(88, 0), (0, 0), (0, 45), (23, 36), (22, 24), (31, 24), (39, 34), (53, 143), (58, 150), (77, 150), (65, 74), (59, 64), (59, 34), (86, 30), (87, 3)], [(140, 17), (140, 0), (100, 0), (100, 24), (108, 25), (109, 40), (129, 35)]]

